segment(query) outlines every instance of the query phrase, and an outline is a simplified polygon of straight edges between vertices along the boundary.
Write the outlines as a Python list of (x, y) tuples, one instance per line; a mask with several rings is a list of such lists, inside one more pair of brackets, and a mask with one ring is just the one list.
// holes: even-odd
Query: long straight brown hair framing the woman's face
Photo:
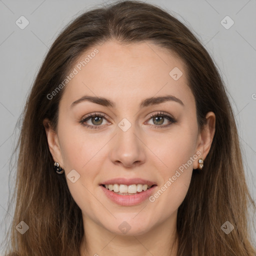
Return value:
[[(14, 194), (16, 204), (8, 251), (13, 255), (79, 255), (84, 234), (81, 210), (65, 177), (53, 170), (43, 119), (56, 128), (64, 91), (48, 99), (80, 54), (115, 39), (120, 43), (151, 41), (185, 63), (200, 127), (216, 115), (215, 134), (203, 171), (193, 171), (177, 212), (178, 256), (255, 256), (247, 224), (255, 204), (245, 183), (234, 115), (217, 68), (198, 39), (178, 19), (142, 1), (119, 1), (75, 18), (53, 42), (35, 78), (23, 110)], [(24, 234), (15, 226), (24, 221)], [(226, 234), (221, 226), (234, 229)]]

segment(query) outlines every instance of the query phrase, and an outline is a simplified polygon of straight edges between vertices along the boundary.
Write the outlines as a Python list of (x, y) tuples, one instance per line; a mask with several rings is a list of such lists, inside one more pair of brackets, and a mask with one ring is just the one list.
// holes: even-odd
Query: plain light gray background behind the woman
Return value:
[[(13, 210), (6, 210), (9, 160), (19, 131), (17, 120), (42, 59), (60, 29), (72, 18), (110, 2), (113, 1), (0, 0), (0, 242), (13, 215)], [(246, 180), (255, 201), (256, 1), (147, 2), (163, 7), (186, 24), (213, 57), (233, 106)], [(15, 23), (21, 15), (29, 21), (24, 29)], [(220, 22), (226, 15), (234, 21), (229, 29)], [(230, 24), (228, 19), (224, 22)], [(3, 219), (5, 215), (7, 218)], [(256, 240), (255, 230), (253, 235)]]

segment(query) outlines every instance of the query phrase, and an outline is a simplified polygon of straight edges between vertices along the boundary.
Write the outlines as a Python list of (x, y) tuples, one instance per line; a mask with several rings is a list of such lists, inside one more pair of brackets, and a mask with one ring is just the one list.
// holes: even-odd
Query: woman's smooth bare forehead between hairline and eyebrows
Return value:
[(117, 106), (166, 94), (193, 101), (182, 60), (150, 42), (96, 45), (77, 58), (70, 72), (75, 75), (61, 99), (69, 106), (83, 95), (109, 98)]

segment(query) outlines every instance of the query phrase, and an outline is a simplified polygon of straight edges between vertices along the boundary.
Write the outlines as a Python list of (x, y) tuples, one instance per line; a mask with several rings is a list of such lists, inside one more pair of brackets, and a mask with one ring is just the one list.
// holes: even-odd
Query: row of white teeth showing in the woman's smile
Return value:
[(110, 191), (114, 191), (116, 193), (129, 193), (129, 194), (135, 194), (137, 192), (141, 192), (142, 190), (145, 191), (151, 186), (148, 186), (147, 184), (132, 184), (132, 185), (124, 185), (124, 184), (109, 184), (104, 185), (106, 189)]

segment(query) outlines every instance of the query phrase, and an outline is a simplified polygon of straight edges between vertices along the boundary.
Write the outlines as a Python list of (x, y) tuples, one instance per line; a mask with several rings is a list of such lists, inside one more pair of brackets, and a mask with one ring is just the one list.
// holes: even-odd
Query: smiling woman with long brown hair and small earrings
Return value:
[(255, 255), (225, 87), (159, 7), (122, 1), (71, 22), (19, 145), (10, 255)]

